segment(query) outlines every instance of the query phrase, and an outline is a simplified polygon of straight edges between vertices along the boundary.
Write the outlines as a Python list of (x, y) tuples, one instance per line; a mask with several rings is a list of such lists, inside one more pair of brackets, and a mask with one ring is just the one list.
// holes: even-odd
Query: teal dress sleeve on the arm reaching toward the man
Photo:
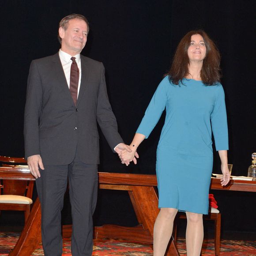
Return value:
[(162, 112), (166, 108), (167, 90), (169, 86), (169, 79), (168, 76), (166, 76), (158, 85), (151, 102), (147, 107), (145, 115), (139, 124), (139, 128), (137, 129), (136, 133), (145, 135), (146, 139), (151, 134), (155, 125), (158, 123)]

